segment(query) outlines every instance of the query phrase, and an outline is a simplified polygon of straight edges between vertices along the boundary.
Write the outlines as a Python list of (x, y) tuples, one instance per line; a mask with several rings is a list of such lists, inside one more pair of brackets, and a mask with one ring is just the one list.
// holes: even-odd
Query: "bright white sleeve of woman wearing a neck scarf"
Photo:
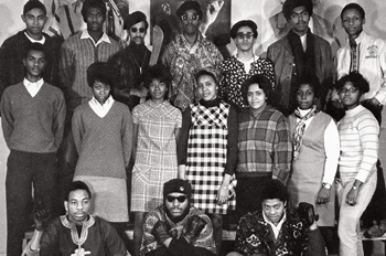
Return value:
[(322, 179), (323, 183), (332, 184), (334, 181), (337, 170), (340, 149), (341, 143), (339, 140), (339, 131), (335, 121), (331, 120), (324, 130), (325, 163)]

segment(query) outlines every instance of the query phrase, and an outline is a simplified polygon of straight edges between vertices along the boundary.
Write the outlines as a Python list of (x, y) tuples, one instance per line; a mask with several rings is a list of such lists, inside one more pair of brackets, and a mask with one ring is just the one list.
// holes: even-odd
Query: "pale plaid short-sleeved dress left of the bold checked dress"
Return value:
[(135, 107), (138, 125), (136, 163), (132, 170), (131, 211), (149, 212), (162, 203), (164, 182), (178, 177), (174, 131), (181, 111), (164, 100), (151, 99)]

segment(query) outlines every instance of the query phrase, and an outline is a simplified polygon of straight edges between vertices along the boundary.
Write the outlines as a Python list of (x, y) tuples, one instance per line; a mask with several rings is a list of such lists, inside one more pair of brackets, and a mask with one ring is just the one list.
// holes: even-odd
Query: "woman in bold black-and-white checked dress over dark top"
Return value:
[(237, 163), (238, 115), (217, 98), (215, 70), (202, 70), (195, 78), (201, 100), (183, 113), (179, 171), (192, 184), (193, 205), (211, 216), (219, 253), (223, 214), (236, 207), (232, 180)]

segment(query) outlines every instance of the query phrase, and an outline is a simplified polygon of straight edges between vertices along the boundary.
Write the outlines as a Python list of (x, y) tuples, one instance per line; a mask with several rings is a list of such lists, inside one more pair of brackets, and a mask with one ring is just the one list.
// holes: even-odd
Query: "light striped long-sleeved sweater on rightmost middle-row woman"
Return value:
[(356, 180), (365, 182), (376, 170), (378, 159), (379, 125), (373, 114), (362, 105), (346, 110), (337, 124), (341, 139), (340, 172), (357, 173)]

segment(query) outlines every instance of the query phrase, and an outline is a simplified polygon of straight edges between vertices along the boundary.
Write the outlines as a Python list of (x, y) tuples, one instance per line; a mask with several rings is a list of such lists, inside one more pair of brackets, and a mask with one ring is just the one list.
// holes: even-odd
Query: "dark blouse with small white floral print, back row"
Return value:
[(225, 60), (218, 68), (224, 76), (218, 90), (219, 97), (235, 105), (238, 110), (245, 110), (248, 107), (242, 96), (242, 86), (250, 76), (262, 74), (272, 83), (272, 89), (275, 88), (274, 65), (266, 58), (257, 56), (250, 64), (249, 73), (245, 72), (244, 64), (235, 56)]

